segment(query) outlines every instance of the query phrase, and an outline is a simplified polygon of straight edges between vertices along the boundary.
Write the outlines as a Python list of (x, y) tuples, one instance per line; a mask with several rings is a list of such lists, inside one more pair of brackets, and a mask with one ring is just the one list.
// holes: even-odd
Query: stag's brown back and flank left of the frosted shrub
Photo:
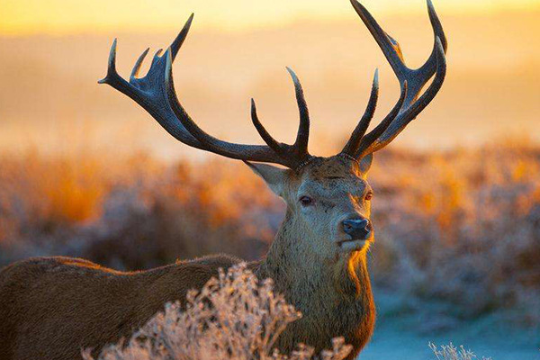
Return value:
[(77, 359), (83, 347), (129, 338), (166, 302), (237, 262), (211, 257), (136, 273), (67, 257), (8, 266), (0, 273), (0, 359)]

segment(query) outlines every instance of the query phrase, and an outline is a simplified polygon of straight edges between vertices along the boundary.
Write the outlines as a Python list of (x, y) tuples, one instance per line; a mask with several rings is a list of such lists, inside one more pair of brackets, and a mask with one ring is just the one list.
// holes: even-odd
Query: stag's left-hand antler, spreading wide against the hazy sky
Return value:
[(270, 136), (257, 119), (253, 101), (253, 122), (267, 146), (236, 144), (214, 138), (197, 126), (189, 114), (185, 112), (175, 93), (172, 63), (184, 43), (192, 22), (193, 14), (189, 17), (171, 46), (166, 49), (165, 54), (161, 55), (161, 49), (157, 51), (152, 59), (148, 74), (138, 78), (140, 66), (148, 54), (148, 49), (146, 49), (135, 62), (129, 82), (123, 79), (116, 71), (116, 40), (114, 40), (109, 55), (107, 75), (99, 83), (111, 85), (122, 94), (128, 95), (152, 115), (175, 139), (193, 148), (200, 148), (224, 157), (275, 163), (290, 168), (296, 168), (309, 160), (311, 158), (308, 152), (308, 139), (310, 136), (309, 113), (303, 97), (302, 85), (293, 70), (288, 67), (287, 70), (293, 77), (296, 99), (301, 113), (300, 127), (293, 145), (279, 143)]

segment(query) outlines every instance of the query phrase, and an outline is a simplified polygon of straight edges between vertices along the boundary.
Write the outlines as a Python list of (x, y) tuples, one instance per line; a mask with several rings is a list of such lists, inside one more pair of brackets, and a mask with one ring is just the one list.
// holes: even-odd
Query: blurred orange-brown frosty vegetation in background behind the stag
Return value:
[[(128, 270), (217, 252), (251, 260), (283, 217), (265, 185), (229, 162), (37, 153), (1, 162), (1, 265), (51, 255)], [(83, 162), (94, 166), (76, 166)], [(98, 190), (55, 193), (64, 166), (76, 169), (74, 188)], [(519, 141), (429, 156), (386, 151), (371, 177), (378, 287), (452, 303), (458, 320), (509, 309), (516, 324), (538, 323), (540, 148)], [(71, 218), (70, 207), (53, 202), (77, 203), (86, 216)]]

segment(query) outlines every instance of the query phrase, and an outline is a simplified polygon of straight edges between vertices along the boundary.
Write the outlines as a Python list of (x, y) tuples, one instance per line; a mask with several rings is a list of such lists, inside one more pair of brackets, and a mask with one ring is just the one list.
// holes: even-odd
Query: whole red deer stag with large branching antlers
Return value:
[[(254, 102), (252, 120), (266, 145), (214, 138), (192, 120), (176, 97), (171, 67), (193, 15), (166, 52), (156, 54), (144, 77), (138, 75), (148, 49), (126, 81), (115, 69), (114, 40), (107, 75), (100, 81), (139, 103), (184, 144), (243, 160), (286, 202), (283, 225), (266, 257), (248, 265), (259, 278), (273, 278), (276, 291), (303, 313), (302, 320), (284, 331), (278, 347), (290, 351), (302, 342), (320, 350), (330, 347), (331, 338), (343, 336), (354, 347), (350, 359), (374, 330), (374, 300), (366, 266), (366, 250), (374, 239), (370, 220), (373, 192), (366, 181), (373, 153), (388, 145), (428, 106), (446, 75), (446, 37), (429, 0), (435, 45), (418, 69), (407, 67), (398, 42), (362, 4), (351, 2), (398, 77), (401, 96), (383, 121), (367, 132), (379, 91), (375, 72), (365, 114), (347, 145), (333, 157), (308, 152), (310, 117), (302, 85), (291, 69), (300, 108), (293, 145), (277, 141), (266, 131)], [(239, 261), (227, 256), (203, 257), (136, 273), (65, 257), (34, 258), (7, 266), (0, 274), (0, 359), (74, 359), (83, 347), (97, 352), (130, 337), (166, 302), (182, 300), (188, 289), (201, 288), (218, 268)]]

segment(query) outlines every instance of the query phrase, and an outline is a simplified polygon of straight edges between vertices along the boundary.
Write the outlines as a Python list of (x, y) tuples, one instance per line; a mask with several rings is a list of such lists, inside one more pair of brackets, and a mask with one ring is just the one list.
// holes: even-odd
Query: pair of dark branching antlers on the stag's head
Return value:
[[(390, 62), (392, 69), (401, 85), (400, 100), (381, 123), (368, 134), (365, 134), (374, 117), (379, 94), (378, 71), (375, 71), (374, 84), (365, 114), (353, 131), (347, 145), (341, 154), (362, 158), (388, 145), (416, 116), (424, 110), (440, 90), (446, 75), (446, 37), (442, 25), (437, 18), (433, 4), (428, 0), (428, 12), (435, 33), (435, 45), (428, 61), (418, 69), (410, 69), (405, 65), (400, 45), (390, 35), (383, 31), (373, 16), (356, 0), (351, 0), (365, 25), (371, 31), (384, 56)], [(116, 90), (128, 95), (139, 103), (159, 124), (175, 139), (193, 148), (210, 151), (224, 157), (237, 158), (244, 161), (275, 163), (297, 169), (306, 164), (312, 157), (308, 152), (310, 137), (310, 116), (306, 105), (302, 85), (293, 70), (287, 70), (293, 77), (296, 101), (300, 110), (300, 125), (293, 145), (276, 141), (266, 131), (257, 117), (255, 101), (251, 100), (251, 119), (266, 145), (243, 145), (214, 138), (202, 130), (184, 110), (175, 93), (172, 76), (172, 64), (182, 47), (193, 22), (193, 14), (171, 46), (161, 55), (157, 50), (152, 59), (148, 74), (139, 75), (139, 69), (148, 55), (146, 49), (135, 62), (130, 75), (130, 81), (124, 80), (116, 71), (116, 40), (112, 42), (109, 55), (107, 75), (100, 84), (111, 85)], [(420, 95), (422, 88), (435, 75), (428, 90)]]

